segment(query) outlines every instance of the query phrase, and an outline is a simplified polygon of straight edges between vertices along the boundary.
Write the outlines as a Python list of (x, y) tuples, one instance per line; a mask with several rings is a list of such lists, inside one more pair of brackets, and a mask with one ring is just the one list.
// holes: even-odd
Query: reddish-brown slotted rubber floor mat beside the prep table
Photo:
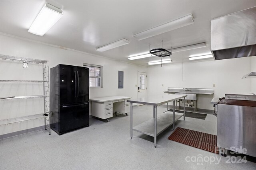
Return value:
[(219, 154), (216, 135), (177, 127), (168, 139)]

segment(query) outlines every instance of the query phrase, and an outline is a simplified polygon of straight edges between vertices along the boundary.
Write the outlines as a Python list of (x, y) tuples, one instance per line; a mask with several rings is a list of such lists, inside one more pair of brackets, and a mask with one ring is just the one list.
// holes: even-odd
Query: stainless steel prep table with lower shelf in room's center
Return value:
[[(187, 95), (180, 95), (180, 94), (168, 94), (163, 96), (154, 96), (154, 97), (147, 97), (147, 98), (138, 98), (138, 99), (132, 99), (127, 100), (127, 102), (130, 102), (130, 114), (131, 114), (131, 139), (132, 139), (132, 131), (138, 131), (140, 133), (144, 133), (146, 135), (150, 135), (154, 137), (154, 147), (156, 147), (156, 137), (162, 131), (173, 125), (173, 129), (175, 127), (175, 121), (180, 119), (180, 117), (184, 117), (185, 120), (185, 103), (183, 107), (183, 114), (178, 113), (175, 115), (175, 109), (173, 109), (173, 112), (168, 111), (168, 102), (173, 102), (173, 106), (175, 106), (175, 101), (178, 99), (182, 99)], [(138, 103), (138, 104), (148, 104), (153, 105), (153, 118), (149, 119), (148, 121), (145, 121), (141, 123), (140, 125), (132, 127), (132, 103)], [(167, 111), (164, 113), (161, 113), (160, 116), (157, 117), (157, 106), (160, 106), (162, 104), (167, 103)], [(170, 119), (172, 117), (172, 120)], [(157, 126), (158, 121), (158, 126)]]

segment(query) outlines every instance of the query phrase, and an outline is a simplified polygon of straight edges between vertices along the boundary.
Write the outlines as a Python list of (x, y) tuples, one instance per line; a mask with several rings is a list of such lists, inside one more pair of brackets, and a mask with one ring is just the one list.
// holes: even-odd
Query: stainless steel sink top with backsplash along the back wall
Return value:
[(165, 93), (186, 93), (186, 94), (214, 94), (214, 89), (210, 88), (171, 88), (168, 87), (168, 91)]

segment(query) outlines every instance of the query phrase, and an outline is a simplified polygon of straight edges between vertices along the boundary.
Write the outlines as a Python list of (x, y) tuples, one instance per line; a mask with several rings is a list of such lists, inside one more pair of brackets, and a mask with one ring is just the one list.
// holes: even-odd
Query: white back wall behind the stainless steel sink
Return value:
[(198, 96), (198, 108), (213, 110), (214, 107), (210, 104), (213, 97), (224, 97), (228, 93), (249, 94), (253, 91), (252, 79), (242, 79), (242, 76), (250, 72), (255, 58), (184, 63), (183, 80), (182, 63), (149, 67), (148, 95), (163, 94), (168, 87), (213, 88), (214, 95)]

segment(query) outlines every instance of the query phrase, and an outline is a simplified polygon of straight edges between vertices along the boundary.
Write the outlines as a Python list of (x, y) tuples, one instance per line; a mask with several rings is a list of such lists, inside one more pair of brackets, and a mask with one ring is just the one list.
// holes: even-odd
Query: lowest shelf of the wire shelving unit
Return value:
[(42, 118), (46, 118), (46, 117), (49, 117), (49, 115), (45, 116), (43, 113), (41, 113), (41, 114), (36, 114), (36, 115), (15, 117), (15, 118), (10, 118), (10, 119), (2, 119), (2, 120), (0, 120), (0, 126), (10, 125), (13, 123), (20, 123), (20, 122), (29, 121), (29, 120), (42, 119)]

